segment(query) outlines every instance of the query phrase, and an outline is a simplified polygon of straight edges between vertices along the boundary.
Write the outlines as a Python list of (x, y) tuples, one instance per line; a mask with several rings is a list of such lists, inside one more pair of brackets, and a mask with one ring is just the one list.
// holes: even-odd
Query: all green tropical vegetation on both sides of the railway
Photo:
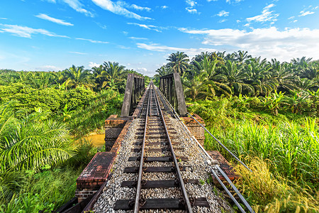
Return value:
[[(188, 111), (252, 170), (206, 135), (206, 150), (234, 165), (235, 184), (255, 212), (319, 211), (318, 60), (177, 52), (156, 72), (146, 84), (181, 75)], [(138, 74), (117, 62), (0, 70), (0, 212), (51, 212), (74, 197), (77, 177), (105, 150), (85, 136), (103, 133), (103, 121), (120, 114), (128, 73)]]

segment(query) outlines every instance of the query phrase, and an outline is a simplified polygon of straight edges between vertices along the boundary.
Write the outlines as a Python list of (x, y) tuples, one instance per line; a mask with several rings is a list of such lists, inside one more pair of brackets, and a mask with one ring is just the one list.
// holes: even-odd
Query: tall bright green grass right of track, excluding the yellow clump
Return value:
[[(272, 162), (272, 171), (301, 184), (318, 187), (319, 127), (315, 119), (305, 119), (303, 125), (284, 121), (277, 126), (235, 121), (231, 129), (209, 128), (226, 147), (238, 156), (258, 156)], [(217, 149), (227, 155), (210, 136), (206, 149)]]

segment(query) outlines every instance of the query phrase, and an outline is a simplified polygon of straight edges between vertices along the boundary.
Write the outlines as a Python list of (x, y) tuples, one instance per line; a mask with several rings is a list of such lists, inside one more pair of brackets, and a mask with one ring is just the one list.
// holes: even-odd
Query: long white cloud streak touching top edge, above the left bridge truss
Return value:
[(112, 13), (116, 13), (118, 15), (125, 16), (127, 18), (135, 18), (138, 20), (152, 19), (152, 18), (148, 18), (148, 17), (142, 17), (136, 13), (128, 11), (127, 9), (123, 8), (121, 3), (116, 4), (110, 0), (92, 0), (92, 1), (94, 2), (94, 4), (101, 7), (101, 9), (105, 9), (105, 10), (110, 11)]

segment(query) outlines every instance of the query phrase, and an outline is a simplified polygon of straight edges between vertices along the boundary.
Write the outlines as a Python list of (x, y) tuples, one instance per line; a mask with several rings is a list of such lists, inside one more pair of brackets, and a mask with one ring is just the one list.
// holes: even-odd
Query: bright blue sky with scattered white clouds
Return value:
[(319, 59), (318, 0), (1, 0), (0, 68), (115, 61), (152, 76), (171, 53)]

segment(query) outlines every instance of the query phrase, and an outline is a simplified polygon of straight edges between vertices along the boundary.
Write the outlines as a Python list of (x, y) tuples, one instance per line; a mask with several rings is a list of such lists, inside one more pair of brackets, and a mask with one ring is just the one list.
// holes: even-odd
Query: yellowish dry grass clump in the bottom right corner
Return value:
[[(319, 212), (319, 192), (310, 187), (300, 187), (293, 182), (274, 175), (269, 170), (269, 160), (250, 158), (248, 166), (236, 170), (241, 178), (236, 185), (254, 204), (254, 212)], [(276, 176), (276, 178), (275, 178)]]

